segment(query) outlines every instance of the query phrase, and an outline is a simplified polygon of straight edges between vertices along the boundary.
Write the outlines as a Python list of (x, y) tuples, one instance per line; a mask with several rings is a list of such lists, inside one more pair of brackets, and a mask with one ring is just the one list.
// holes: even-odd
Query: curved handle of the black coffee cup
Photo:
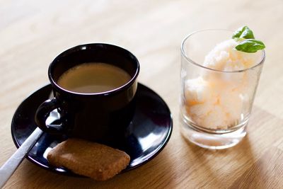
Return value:
[(63, 134), (63, 123), (52, 126), (46, 125), (46, 120), (50, 113), (52, 110), (59, 108), (59, 105), (60, 104), (56, 98), (52, 98), (43, 102), (35, 112), (35, 123), (37, 124), (37, 127), (40, 127), (42, 131), (49, 134)]

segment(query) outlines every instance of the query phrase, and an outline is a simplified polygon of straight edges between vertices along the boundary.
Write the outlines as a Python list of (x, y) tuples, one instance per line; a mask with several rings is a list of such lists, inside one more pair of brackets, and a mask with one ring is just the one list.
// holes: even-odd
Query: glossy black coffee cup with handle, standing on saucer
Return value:
[[(57, 84), (68, 69), (86, 62), (103, 62), (120, 67), (131, 79), (127, 84), (103, 93), (76, 93)], [(35, 122), (50, 134), (66, 134), (103, 144), (115, 144), (125, 134), (134, 114), (139, 61), (131, 52), (102, 43), (79, 45), (58, 55), (50, 64), (48, 76), (54, 98), (43, 102), (35, 113)], [(53, 110), (59, 113), (56, 124), (47, 125)]]

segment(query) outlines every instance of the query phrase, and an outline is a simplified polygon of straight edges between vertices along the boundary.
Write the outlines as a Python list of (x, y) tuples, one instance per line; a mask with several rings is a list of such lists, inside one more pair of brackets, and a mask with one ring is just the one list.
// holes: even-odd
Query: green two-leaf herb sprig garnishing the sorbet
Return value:
[(262, 41), (255, 40), (253, 31), (246, 25), (242, 28), (238, 28), (238, 30), (233, 33), (232, 38), (239, 42), (239, 44), (235, 47), (238, 51), (252, 53), (265, 48)]

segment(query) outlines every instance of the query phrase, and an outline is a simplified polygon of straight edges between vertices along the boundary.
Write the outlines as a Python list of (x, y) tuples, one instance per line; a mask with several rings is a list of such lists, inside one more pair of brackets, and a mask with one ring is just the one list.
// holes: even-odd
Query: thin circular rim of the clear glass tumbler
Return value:
[[(183, 55), (183, 57), (185, 57), (185, 59), (188, 61), (188, 62), (191, 62), (192, 64), (195, 64), (195, 66), (197, 67), (202, 67), (204, 69), (209, 69), (210, 71), (216, 71), (216, 72), (220, 72), (220, 73), (241, 73), (241, 72), (244, 72), (244, 71), (247, 71), (249, 69), (254, 69), (255, 67), (258, 67), (260, 66), (261, 64), (263, 64), (263, 62), (265, 62), (265, 50), (261, 50), (262, 51), (262, 57), (260, 59), (260, 61), (258, 62), (258, 64), (255, 64), (253, 67), (248, 67), (246, 69), (240, 69), (240, 70), (234, 70), (234, 71), (223, 71), (223, 70), (219, 70), (219, 69), (212, 69), (212, 68), (209, 68), (209, 67), (204, 67), (202, 64), (199, 64), (195, 61), (193, 61), (192, 59), (190, 59), (190, 57), (188, 57), (186, 54), (185, 54), (185, 50), (184, 50), (184, 44), (185, 44), (185, 41), (190, 38), (192, 35), (195, 35), (196, 33), (201, 33), (201, 32), (206, 32), (206, 31), (227, 31), (227, 32), (231, 32), (233, 33), (232, 30), (226, 30), (226, 29), (205, 29), (205, 30), (196, 30), (192, 33), (190, 33), (189, 35), (187, 35), (183, 40), (182, 40), (182, 43), (181, 43), (181, 53)], [(248, 53), (248, 52), (247, 52)]]

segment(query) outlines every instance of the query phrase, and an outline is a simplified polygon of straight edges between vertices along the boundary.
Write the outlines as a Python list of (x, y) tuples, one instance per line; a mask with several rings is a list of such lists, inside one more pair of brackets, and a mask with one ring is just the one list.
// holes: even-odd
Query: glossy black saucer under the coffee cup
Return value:
[[(35, 91), (19, 105), (13, 115), (11, 125), (13, 142), (16, 147), (20, 147), (37, 127), (34, 121), (35, 110), (43, 101), (50, 98), (50, 93), (52, 93), (52, 88), (48, 84)], [(125, 132), (125, 143), (118, 147), (131, 157), (129, 166), (124, 171), (137, 168), (153, 159), (166, 146), (173, 128), (171, 112), (157, 93), (138, 84), (136, 95), (136, 110)], [(56, 117), (56, 113), (52, 112), (50, 119), (52, 116)], [(44, 133), (26, 158), (47, 170), (74, 176), (74, 173), (65, 168), (51, 166), (46, 158), (48, 151), (65, 139)]]

